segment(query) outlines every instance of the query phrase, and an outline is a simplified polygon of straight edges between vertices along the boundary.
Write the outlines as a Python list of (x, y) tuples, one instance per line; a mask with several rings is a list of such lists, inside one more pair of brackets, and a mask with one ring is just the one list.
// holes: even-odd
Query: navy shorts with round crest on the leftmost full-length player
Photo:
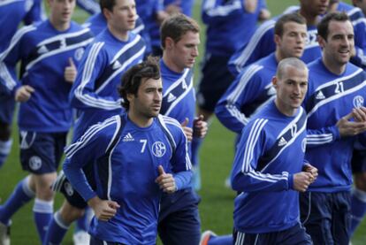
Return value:
[(67, 133), (20, 131), (20, 162), (23, 170), (34, 174), (57, 172), (64, 154)]

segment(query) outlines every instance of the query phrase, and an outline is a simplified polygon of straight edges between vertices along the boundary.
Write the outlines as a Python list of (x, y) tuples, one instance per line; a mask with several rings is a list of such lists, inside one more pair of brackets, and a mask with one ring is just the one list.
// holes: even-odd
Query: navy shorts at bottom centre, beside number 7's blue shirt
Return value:
[(199, 244), (201, 221), (198, 213), (200, 197), (192, 188), (164, 194), (160, 203), (157, 231), (163, 244)]

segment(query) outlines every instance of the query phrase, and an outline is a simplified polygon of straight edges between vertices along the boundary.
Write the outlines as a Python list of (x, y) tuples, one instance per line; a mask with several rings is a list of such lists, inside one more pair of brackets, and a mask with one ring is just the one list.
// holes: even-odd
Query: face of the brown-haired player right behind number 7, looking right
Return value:
[(194, 66), (195, 58), (198, 56), (198, 44), (200, 44), (200, 34), (188, 31), (178, 42), (171, 42), (167, 47), (172, 57), (172, 63), (178, 71)]

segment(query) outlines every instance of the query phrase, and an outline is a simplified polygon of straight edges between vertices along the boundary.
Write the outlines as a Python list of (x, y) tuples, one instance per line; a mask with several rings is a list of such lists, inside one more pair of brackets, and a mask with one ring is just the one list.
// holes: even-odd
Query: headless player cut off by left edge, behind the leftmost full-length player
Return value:
[[(43, 18), (44, 19), (44, 18)], [(2, 1), (0, 3), (0, 52), (4, 51), (16, 33), (19, 23), (30, 25), (42, 20), (42, 1)], [(14, 37), (16, 38), (16, 37)], [(11, 152), (11, 122), (15, 101), (0, 92), (0, 168)]]

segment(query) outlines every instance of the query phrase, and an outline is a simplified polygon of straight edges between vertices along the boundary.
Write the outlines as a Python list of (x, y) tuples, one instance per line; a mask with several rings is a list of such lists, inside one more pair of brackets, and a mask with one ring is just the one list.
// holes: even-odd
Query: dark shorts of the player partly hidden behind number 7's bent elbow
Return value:
[[(94, 178), (94, 165), (86, 165), (83, 168), (85, 176), (87, 177), (88, 183), (91, 188), (95, 189), (95, 178)], [(82, 198), (82, 196), (72, 188), (72, 184), (69, 180), (67, 180), (64, 172), (59, 172), (57, 176), (57, 180), (52, 186), (52, 189), (57, 192), (61, 192), (68, 203), (72, 205), (72, 207), (83, 210), (87, 208), (88, 203)]]

